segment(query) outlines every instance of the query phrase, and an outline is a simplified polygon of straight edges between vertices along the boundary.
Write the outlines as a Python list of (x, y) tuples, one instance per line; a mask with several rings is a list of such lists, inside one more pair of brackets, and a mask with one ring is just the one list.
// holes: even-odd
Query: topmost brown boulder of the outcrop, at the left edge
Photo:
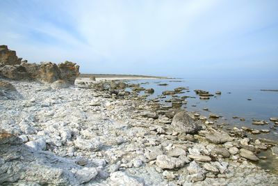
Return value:
[(6, 45), (0, 45), (0, 63), (2, 65), (20, 65), (22, 59), (17, 57), (15, 51)]

